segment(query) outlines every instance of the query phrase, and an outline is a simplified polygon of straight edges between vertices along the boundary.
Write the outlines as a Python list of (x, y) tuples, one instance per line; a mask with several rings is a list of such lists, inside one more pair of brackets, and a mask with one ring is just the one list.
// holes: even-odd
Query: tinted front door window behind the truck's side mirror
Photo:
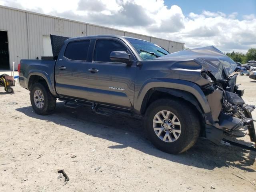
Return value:
[(113, 62), (110, 60), (112, 51), (127, 51), (127, 49), (119, 42), (114, 40), (97, 40), (94, 50), (94, 61)]

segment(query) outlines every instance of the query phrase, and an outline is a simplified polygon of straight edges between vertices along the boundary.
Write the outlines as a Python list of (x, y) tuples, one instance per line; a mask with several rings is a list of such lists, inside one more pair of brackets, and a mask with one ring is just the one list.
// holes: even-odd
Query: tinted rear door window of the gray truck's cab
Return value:
[(86, 61), (90, 40), (68, 43), (64, 56), (68, 59)]

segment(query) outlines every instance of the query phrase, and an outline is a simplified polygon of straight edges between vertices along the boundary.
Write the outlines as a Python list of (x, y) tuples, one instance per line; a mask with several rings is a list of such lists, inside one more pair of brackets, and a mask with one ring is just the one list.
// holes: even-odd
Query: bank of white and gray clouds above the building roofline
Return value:
[(167, 7), (164, 0), (0, 0), (0, 4), (184, 42), (186, 47), (214, 45), (246, 52), (256, 47), (256, 17), (237, 12), (191, 12)]

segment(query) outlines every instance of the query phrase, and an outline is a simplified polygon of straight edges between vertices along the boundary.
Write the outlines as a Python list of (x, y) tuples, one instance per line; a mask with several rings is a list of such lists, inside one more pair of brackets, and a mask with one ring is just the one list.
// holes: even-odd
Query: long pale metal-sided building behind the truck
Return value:
[(169, 52), (183, 50), (184, 43), (113, 28), (0, 6), (0, 69), (11, 69), (20, 59), (51, 56), (50, 34), (78, 37), (113, 34), (154, 42)]

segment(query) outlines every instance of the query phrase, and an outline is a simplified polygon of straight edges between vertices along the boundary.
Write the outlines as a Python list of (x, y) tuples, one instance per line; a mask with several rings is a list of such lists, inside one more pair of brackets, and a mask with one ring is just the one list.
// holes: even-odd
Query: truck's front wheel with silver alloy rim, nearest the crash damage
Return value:
[(154, 146), (171, 154), (191, 148), (200, 134), (196, 111), (182, 100), (160, 99), (150, 104), (144, 126)]

